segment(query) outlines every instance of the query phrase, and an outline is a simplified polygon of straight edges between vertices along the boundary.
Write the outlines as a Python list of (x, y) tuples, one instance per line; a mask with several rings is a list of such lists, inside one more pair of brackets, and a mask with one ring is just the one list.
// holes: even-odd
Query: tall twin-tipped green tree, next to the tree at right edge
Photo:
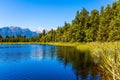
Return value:
[(99, 31), (98, 31), (98, 40), (100, 41), (107, 41), (108, 40), (108, 34), (109, 34), (109, 26), (111, 22), (111, 7), (110, 5), (107, 5), (105, 11), (103, 11), (103, 8), (101, 10), (100, 15), (100, 25), (99, 25)]

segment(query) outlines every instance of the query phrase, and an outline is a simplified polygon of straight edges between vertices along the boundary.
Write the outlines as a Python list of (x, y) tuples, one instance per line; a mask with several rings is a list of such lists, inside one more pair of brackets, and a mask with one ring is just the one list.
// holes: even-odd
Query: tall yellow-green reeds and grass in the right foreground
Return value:
[[(108, 80), (120, 80), (120, 42), (89, 43)], [(97, 61), (97, 59), (95, 60)]]

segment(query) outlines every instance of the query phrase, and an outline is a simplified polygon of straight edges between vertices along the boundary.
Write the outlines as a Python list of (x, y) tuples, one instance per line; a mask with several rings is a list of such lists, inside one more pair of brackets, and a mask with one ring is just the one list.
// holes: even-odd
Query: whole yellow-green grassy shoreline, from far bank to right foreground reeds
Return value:
[[(106, 71), (112, 78), (120, 79), (120, 41), (117, 42), (90, 42), (90, 43), (70, 43), (70, 42), (0, 42), (4, 44), (41, 44), (51, 46), (71, 46), (82, 52), (89, 51), (91, 56), (95, 59), (95, 63), (102, 61), (99, 64), (103, 71)], [(110, 64), (111, 63), (111, 64)], [(116, 71), (116, 72), (113, 72)], [(117, 74), (116, 74), (117, 73)], [(114, 75), (116, 74), (116, 75)]]

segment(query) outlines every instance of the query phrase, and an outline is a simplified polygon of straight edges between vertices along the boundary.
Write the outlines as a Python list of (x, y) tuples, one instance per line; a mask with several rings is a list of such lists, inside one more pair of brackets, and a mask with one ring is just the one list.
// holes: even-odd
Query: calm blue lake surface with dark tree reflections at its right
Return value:
[(100, 80), (88, 53), (73, 47), (0, 45), (0, 80)]

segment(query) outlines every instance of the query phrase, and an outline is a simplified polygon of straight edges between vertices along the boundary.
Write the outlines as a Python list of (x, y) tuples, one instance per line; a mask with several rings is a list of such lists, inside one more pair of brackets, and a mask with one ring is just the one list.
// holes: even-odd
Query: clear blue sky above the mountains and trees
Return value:
[(0, 0), (0, 27), (18, 26), (30, 30), (51, 29), (71, 22), (76, 11), (88, 11), (116, 0)]

